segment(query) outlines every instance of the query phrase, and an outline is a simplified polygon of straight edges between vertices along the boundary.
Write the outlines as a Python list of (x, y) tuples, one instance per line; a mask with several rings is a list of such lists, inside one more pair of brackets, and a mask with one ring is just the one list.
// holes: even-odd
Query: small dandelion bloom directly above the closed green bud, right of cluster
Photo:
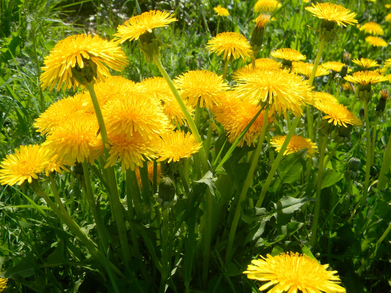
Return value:
[(191, 132), (176, 130), (169, 131), (161, 136), (161, 139), (156, 143), (157, 154), (160, 156), (158, 162), (168, 159), (177, 162), (182, 158), (190, 158), (192, 154), (201, 148), (202, 143), (196, 143)]

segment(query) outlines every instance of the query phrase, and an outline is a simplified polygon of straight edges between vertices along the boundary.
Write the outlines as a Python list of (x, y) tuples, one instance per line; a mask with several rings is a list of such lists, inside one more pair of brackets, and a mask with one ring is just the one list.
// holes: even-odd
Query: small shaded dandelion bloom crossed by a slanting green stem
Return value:
[[(276, 148), (276, 151), (280, 151), (282, 144), (285, 141), (285, 138), (286, 135), (276, 135), (272, 137), (271, 145)], [(309, 138), (304, 138), (303, 136), (293, 134), (288, 146), (286, 146), (284, 155), (298, 152), (299, 150), (302, 150), (304, 148), (308, 148), (307, 157), (313, 157), (318, 146), (316, 146), (315, 143), (311, 142)]]

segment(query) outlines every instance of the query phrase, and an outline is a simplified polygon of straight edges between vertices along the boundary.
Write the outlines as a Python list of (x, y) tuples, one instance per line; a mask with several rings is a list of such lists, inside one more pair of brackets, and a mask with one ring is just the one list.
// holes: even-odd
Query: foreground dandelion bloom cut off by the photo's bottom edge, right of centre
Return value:
[(337, 271), (327, 271), (328, 265), (320, 265), (316, 259), (299, 253), (281, 253), (266, 255), (266, 258), (252, 260), (247, 267), (247, 277), (252, 280), (267, 282), (259, 290), (274, 286), (267, 293), (345, 293), (340, 285)]

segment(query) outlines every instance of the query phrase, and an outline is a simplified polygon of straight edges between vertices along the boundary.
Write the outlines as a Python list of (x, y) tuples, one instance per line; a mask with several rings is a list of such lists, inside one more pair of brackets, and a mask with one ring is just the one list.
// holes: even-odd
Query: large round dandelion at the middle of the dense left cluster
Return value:
[(127, 92), (113, 97), (102, 107), (108, 133), (152, 139), (169, 129), (169, 120), (158, 101), (148, 94)]

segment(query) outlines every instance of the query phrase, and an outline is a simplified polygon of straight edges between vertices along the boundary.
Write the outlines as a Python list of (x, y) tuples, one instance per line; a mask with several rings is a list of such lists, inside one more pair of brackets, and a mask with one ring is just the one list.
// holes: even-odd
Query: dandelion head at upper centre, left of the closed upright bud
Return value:
[(206, 50), (217, 53), (217, 56), (224, 53), (223, 60), (241, 57), (243, 62), (253, 54), (247, 39), (243, 35), (233, 32), (217, 34), (206, 43)]

